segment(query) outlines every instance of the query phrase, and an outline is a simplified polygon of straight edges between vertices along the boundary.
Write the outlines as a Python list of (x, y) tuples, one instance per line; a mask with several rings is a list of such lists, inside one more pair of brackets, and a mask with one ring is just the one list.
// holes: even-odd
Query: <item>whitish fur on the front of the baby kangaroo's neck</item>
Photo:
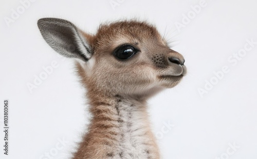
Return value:
[(113, 158), (156, 158), (145, 106), (120, 101), (116, 109), (120, 132)]

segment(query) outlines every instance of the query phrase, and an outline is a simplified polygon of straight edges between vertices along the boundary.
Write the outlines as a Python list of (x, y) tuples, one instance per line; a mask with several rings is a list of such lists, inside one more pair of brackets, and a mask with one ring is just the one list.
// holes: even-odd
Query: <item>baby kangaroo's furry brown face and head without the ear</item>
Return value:
[(100, 26), (94, 36), (84, 37), (93, 53), (88, 62), (77, 66), (87, 87), (148, 97), (174, 87), (186, 74), (182, 55), (171, 50), (146, 22), (114, 22)]

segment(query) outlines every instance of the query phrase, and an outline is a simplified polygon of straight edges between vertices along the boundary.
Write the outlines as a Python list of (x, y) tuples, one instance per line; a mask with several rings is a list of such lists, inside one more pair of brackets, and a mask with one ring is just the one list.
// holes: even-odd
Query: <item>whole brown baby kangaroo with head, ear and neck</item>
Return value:
[(186, 75), (183, 56), (147, 22), (116, 21), (95, 35), (58, 18), (38, 27), (53, 50), (75, 59), (87, 89), (93, 116), (74, 158), (160, 158), (146, 101)]

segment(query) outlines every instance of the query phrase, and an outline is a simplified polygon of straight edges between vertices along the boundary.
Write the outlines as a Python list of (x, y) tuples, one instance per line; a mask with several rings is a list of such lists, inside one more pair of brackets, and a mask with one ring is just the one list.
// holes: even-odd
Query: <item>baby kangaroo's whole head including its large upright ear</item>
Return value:
[(95, 35), (57, 18), (39, 19), (38, 27), (53, 50), (77, 59), (79, 75), (88, 89), (149, 97), (174, 87), (187, 72), (183, 56), (171, 50), (146, 22), (104, 24)]

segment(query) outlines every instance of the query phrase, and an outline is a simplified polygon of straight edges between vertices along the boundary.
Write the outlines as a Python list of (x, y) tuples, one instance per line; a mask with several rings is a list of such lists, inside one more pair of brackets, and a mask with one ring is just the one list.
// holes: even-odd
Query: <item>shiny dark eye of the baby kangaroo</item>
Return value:
[(122, 45), (114, 51), (114, 55), (120, 59), (131, 58), (137, 50), (130, 45)]

